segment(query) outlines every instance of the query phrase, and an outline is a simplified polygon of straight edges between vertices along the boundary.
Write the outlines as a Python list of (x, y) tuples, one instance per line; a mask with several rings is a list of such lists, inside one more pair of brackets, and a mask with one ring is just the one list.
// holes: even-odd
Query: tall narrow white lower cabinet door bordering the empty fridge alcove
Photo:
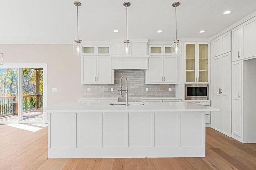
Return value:
[(232, 64), (232, 133), (242, 137), (241, 61)]

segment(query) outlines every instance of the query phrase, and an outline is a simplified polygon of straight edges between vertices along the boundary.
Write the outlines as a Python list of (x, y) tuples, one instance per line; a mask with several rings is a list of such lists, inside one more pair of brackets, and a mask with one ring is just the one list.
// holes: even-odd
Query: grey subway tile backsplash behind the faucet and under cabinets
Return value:
[[(83, 97), (119, 97), (120, 78), (127, 76), (130, 97), (175, 97), (175, 84), (145, 84), (144, 70), (114, 70), (115, 84), (84, 84)], [(90, 92), (87, 92), (90, 88)], [(110, 89), (113, 88), (113, 92)], [(126, 80), (122, 80), (122, 88), (126, 90)], [(148, 88), (148, 92), (146, 92)], [(172, 91), (169, 92), (169, 88)]]

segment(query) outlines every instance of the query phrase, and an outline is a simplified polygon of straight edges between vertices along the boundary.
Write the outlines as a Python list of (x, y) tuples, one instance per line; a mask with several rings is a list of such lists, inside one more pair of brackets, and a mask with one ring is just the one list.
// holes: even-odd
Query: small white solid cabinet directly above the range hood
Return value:
[[(122, 55), (123, 42), (113, 42), (112, 55)], [(147, 41), (144, 42), (130, 42), (130, 54), (131, 55), (147, 55), (148, 45)]]

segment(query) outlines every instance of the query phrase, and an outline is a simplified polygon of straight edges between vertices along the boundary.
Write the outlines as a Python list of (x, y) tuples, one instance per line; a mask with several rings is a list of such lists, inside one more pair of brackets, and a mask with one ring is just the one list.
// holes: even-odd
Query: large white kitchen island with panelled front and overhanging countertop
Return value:
[(204, 157), (205, 112), (190, 102), (46, 107), (48, 158)]

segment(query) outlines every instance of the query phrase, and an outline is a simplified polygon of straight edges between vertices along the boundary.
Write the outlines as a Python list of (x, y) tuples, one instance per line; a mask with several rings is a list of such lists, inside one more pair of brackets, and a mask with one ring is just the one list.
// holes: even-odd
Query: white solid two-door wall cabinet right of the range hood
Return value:
[(156, 55), (148, 59), (145, 84), (177, 84), (178, 58), (176, 56)]

